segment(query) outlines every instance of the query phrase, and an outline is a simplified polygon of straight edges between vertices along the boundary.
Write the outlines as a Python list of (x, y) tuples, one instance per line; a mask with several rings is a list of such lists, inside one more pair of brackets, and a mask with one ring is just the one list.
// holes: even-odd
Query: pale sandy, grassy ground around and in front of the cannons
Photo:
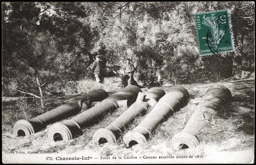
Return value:
[[(93, 133), (102, 127), (106, 127), (113, 122), (124, 110), (118, 109), (111, 115), (108, 115), (99, 124), (83, 129), (84, 134), (69, 142), (58, 141), (52, 143), (47, 139), (48, 125), (45, 129), (33, 134), (29, 138), (15, 137), (10, 130), (2, 131), (2, 155), (4, 163), (254, 163), (254, 130), (249, 132), (245, 128), (254, 127), (254, 79), (246, 79), (230, 82), (218, 82), (210, 84), (185, 84), (190, 94), (190, 104), (198, 103), (207, 91), (209, 86), (225, 85), (233, 95), (233, 102), (230, 110), (225, 116), (216, 116), (217, 127), (209, 126), (201, 133), (203, 142), (207, 142), (209, 138), (220, 136), (224, 141), (213, 141), (212, 145), (201, 145), (196, 149), (179, 150), (172, 148), (169, 143), (175, 133), (183, 129), (184, 121), (189, 119), (189, 113), (186, 107), (175, 113), (166, 122), (160, 124), (157, 131), (154, 132), (148, 144), (140, 147), (126, 148), (119, 140), (115, 145), (95, 146), (92, 143)], [(171, 87), (162, 87), (168, 91)], [(145, 92), (147, 89), (143, 89)], [(7, 98), (5, 98), (6, 100)], [(3, 101), (3, 97), (2, 97)], [(246, 106), (244, 106), (246, 104)], [(219, 114), (223, 115), (223, 113)], [(248, 123), (248, 116), (253, 119)], [(245, 117), (245, 118), (242, 118)], [(125, 130), (125, 133), (131, 131), (139, 124), (145, 116), (134, 121), (131, 128)], [(237, 119), (236, 119), (237, 118)], [(242, 120), (243, 119), (243, 120)], [(237, 121), (236, 121), (237, 120)], [(63, 122), (63, 121), (61, 121)], [(238, 124), (237, 124), (238, 123)], [(225, 125), (226, 124), (226, 125)], [(230, 124), (230, 125), (229, 125)], [(242, 129), (240, 127), (242, 126)], [(250, 127), (249, 127), (250, 126)], [(2, 125), (3, 127), (3, 125)], [(219, 131), (223, 129), (223, 131)], [(213, 133), (214, 132), (214, 133)], [(214, 134), (214, 136), (213, 136)], [(226, 144), (226, 145), (225, 145)], [(31, 154), (28, 152), (35, 152)], [(9, 153), (8, 153), (9, 152)], [(14, 152), (14, 153), (12, 153)], [(16, 153), (24, 152), (24, 153)], [(89, 156), (89, 160), (65, 160), (58, 161), (58, 157), (81, 157)], [(129, 157), (130, 159), (125, 159)], [(135, 159), (134, 156), (137, 156)], [(147, 159), (147, 157), (155, 156), (156, 158)], [(174, 156), (174, 158), (160, 159), (159, 156)], [(184, 156), (184, 158), (176, 158), (176, 156)], [(187, 158), (185, 158), (187, 156)], [(189, 158), (189, 156), (194, 156)], [(47, 160), (52, 157), (53, 160)], [(115, 159), (116, 157), (116, 159)], [(119, 159), (119, 158), (122, 159)], [(105, 159), (104, 159), (105, 158)], [(109, 158), (109, 159), (108, 159)], [(49, 158), (50, 159), (50, 158)]]

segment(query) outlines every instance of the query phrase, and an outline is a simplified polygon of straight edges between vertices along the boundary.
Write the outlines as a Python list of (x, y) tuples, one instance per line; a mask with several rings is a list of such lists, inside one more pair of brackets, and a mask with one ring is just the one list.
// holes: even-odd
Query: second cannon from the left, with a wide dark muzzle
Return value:
[[(133, 100), (134, 102), (139, 92), (142, 91), (137, 86), (125, 87), (74, 118), (63, 123), (53, 124), (48, 130), (48, 138), (55, 142), (76, 138), (82, 133), (82, 128), (99, 122), (100, 119), (104, 118), (105, 114), (113, 112), (119, 106), (122, 106), (119, 101), (123, 103), (123, 100)], [(128, 101), (125, 102), (127, 103)]]

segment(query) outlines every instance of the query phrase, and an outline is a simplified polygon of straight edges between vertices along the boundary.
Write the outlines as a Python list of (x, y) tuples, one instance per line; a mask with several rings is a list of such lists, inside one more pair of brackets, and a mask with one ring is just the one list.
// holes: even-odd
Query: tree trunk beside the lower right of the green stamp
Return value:
[(236, 45), (236, 53), (234, 55), (234, 61), (233, 61), (233, 70), (232, 75), (233, 78), (240, 79), (242, 74), (242, 53), (243, 53), (243, 36), (241, 37), (241, 40), (239, 41), (237, 39), (237, 45)]

